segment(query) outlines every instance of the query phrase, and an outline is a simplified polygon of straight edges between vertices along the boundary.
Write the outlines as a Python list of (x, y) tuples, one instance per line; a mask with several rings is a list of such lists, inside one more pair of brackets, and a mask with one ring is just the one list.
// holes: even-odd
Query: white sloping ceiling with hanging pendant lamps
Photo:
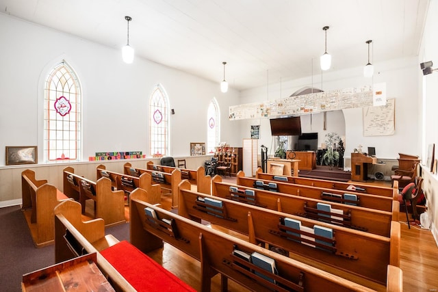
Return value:
[[(429, 0), (0, 0), (0, 12), (237, 90), (418, 55)], [(134, 60), (135, 62), (135, 60)], [(313, 64), (313, 65), (312, 65)], [(129, 65), (127, 65), (129, 66)]]

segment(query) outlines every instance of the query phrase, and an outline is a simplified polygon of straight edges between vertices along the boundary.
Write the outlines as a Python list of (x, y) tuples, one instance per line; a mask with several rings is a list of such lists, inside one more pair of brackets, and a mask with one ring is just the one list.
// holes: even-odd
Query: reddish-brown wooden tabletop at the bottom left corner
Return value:
[(114, 291), (95, 263), (96, 253), (93, 253), (33, 271), (23, 275), (21, 290)]

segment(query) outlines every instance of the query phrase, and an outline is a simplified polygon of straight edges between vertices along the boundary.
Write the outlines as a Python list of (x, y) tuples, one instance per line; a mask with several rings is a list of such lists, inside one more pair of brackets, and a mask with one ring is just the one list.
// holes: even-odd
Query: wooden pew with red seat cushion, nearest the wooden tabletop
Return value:
[[(81, 206), (77, 202), (55, 208), (55, 226), (56, 263), (82, 254), (96, 254), (96, 265), (116, 291), (158, 291), (151, 277), (175, 291), (194, 291), (127, 241), (119, 242), (112, 235), (105, 235), (101, 218), (82, 222)], [(130, 260), (133, 263), (127, 265)]]

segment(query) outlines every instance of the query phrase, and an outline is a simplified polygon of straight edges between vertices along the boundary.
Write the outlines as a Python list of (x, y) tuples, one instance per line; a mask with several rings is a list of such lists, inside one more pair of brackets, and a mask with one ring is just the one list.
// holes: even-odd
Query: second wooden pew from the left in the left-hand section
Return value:
[(82, 213), (86, 200), (94, 202), (94, 217), (102, 218), (106, 226), (125, 222), (125, 194), (113, 191), (109, 178), (99, 178), (97, 182), (75, 174), (71, 167), (63, 171), (64, 192), (67, 196), (79, 196)]

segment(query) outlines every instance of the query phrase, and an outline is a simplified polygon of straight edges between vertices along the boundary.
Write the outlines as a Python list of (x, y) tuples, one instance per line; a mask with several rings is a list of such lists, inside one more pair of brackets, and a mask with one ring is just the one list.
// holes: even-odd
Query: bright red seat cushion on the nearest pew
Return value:
[(137, 291), (196, 291), (128, 241), (101, 254)]

